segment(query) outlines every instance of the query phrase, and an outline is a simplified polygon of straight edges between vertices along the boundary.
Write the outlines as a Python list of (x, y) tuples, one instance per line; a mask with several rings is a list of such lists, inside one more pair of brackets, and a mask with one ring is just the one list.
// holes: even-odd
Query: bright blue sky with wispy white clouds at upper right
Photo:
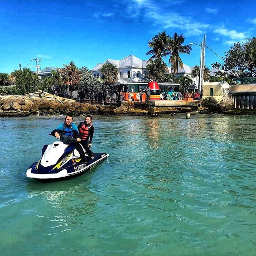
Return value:
[[(184, 44), (206, 45), (220, 56), (233, 43), (256, 36), (255, 0), (0, 0), (0, 72), (22, 67), (63, 67), (71, 60), (92, 69), (107, 58), (148, 59), (148, 41), (166, 30)], [(199, 65), (192, 45), (183, 63)], [(205, 64), (222, 60), (209, 49)]]

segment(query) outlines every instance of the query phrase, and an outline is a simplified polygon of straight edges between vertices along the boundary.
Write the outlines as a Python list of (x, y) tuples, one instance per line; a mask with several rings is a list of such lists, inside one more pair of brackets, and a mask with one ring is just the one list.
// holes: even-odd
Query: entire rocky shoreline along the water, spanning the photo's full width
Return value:
[(0, 95), (0, 117), (23, 116), (58, 116), (72, 113), (73, 116), (81, 115), (129, 115), (129, 116), (162, 116), (168, 113), (180, 113), (198, 111), (201, 114), (222, 113), (231, 115), (256, 114), (255, 111), (223, 110), (221, 105), (200, 107), (160, 107), (154, 108), (145, 103), (132, 101), (122, 102), (120, 107), (116, 105), (91, 105), (78, 103), (75, 100), (62, 98), (48, 92), (34, 92), (26, 95)]

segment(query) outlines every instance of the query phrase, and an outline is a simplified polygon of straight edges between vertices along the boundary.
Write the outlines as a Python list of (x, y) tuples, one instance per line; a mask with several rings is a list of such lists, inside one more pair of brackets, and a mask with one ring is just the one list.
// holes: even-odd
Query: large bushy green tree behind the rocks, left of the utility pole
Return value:
[(15, 79), (15, 86), (20, 95), (36, 92), (41, 89), (38, 75), (29, 68), (15, 69), (11, 76)]

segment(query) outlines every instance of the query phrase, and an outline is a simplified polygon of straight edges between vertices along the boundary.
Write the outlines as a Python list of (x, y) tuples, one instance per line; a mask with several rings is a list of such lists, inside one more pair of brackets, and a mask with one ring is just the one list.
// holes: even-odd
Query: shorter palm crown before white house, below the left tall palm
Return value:
[(166, 72), (166, 64), (161, 58), (150, 59), (147, 65), (148, 76), (153, 81), (159, 81), (164, 77), (164, 72)]

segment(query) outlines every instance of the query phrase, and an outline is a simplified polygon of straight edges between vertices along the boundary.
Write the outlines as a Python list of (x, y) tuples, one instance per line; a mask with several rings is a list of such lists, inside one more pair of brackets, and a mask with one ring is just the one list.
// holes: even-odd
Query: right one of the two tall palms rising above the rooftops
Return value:
[(179, 66), (183, 68), (183, 63), (181, 58), (179, 57), (180, 53), (190, 54), (192, 48), (189, 45), (182, 45), (184, 43), (184, 35), (178, 35), (176, 32), (174, 33), (174, 37), (169, 40), (168, 51), (167, 54), (170, 55), (169, 64), (172, 65), (172, 72), (175, 74), (178, 73)]

